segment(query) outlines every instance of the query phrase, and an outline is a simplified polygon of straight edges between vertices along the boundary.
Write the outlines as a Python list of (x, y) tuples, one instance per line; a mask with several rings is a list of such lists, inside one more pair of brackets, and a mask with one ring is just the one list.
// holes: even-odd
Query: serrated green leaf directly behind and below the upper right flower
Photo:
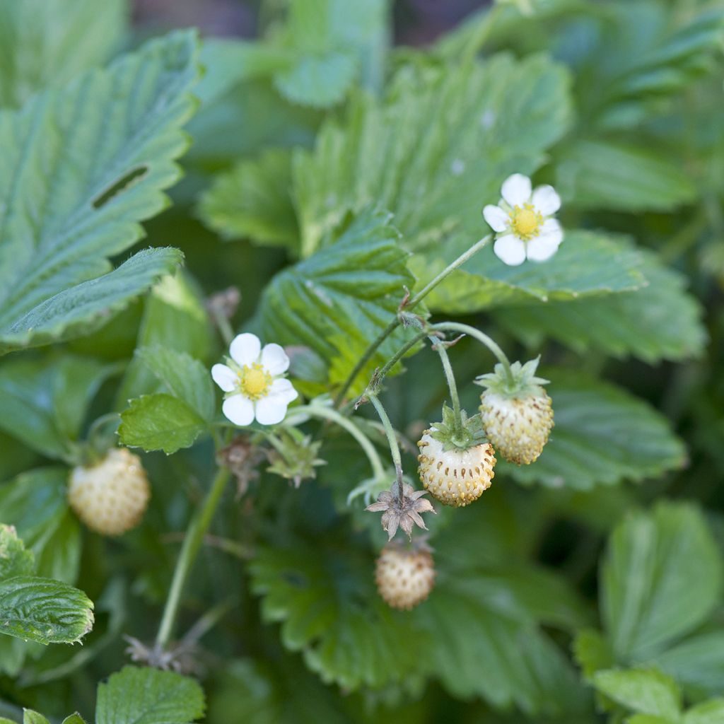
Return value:
[[(432, 278), (470, 246), (469, 238), (454, 237), (442, 249), (416, 254), (411, 269), (420, 275), (424, 269), (425, 279)], [(521, 266), (508, 266), (495, 256), (491, 246), (484, 248), (435, 287), (426, 302), (436, 311), (466, 314), (531, 300), (629, 292), (646, 283), (642, 264), (638, 251), (614, 237), (566, 231), (560, 249), (544, 264), (526, 261)]]

